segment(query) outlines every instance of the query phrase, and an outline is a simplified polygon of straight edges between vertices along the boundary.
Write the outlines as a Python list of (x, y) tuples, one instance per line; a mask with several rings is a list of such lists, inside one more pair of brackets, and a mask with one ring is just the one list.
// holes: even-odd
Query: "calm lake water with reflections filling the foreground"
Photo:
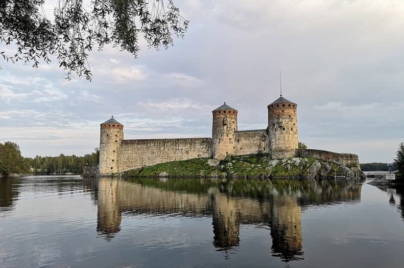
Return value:
[(0, 179), (0, 267), (400, 267), (404, 189), (356, 180)]

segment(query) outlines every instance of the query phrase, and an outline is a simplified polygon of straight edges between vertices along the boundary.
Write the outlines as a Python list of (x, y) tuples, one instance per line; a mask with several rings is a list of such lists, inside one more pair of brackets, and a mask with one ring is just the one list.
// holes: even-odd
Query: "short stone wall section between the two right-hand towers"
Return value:
[(269, 141), (266, 130), (236, 131), (235, 155), (268, 153)]

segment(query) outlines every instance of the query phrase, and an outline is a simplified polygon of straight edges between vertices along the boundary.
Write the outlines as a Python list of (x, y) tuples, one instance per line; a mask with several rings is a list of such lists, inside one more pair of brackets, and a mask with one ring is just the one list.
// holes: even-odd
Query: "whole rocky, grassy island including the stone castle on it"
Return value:
[(115, 118), (100, 124), (99, 165), (84, 176), (359, 178), (358, 156), (298, 148), (297, 104), (282, 95), (267, 106), (268, 125), (238, 130), (238, 111), (212, 111), (212, 137), (124, 139)]

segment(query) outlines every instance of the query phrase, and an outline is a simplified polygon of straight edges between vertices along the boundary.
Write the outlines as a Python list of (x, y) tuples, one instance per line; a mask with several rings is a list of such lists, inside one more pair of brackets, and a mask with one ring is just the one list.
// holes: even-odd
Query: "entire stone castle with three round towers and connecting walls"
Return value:
[(225, 159), (226, 156), (268, 154), (272, 159), (314, 157), (342, 165), (358, 157), (327, 151), (298, 149), (297, 104), (284, 97), (267, 106), (268, 127), (238, 130), (238, 111), (226, 103), (214, 109), (212, 137), (170, 139), (123, 139), (123, 125), (113, 117), (100, 124), (98, 175), (193, 158)]

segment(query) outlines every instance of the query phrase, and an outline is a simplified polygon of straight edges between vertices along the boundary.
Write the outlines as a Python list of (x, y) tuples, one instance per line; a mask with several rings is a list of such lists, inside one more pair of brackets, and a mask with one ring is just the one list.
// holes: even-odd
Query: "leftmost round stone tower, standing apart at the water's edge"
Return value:
[(109, 175), (118, 172), (118, 152), (123, 140), (123, 125), (114, 117), (100, 124), (99, 174)]

